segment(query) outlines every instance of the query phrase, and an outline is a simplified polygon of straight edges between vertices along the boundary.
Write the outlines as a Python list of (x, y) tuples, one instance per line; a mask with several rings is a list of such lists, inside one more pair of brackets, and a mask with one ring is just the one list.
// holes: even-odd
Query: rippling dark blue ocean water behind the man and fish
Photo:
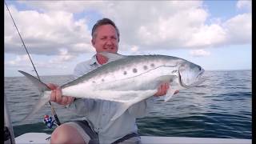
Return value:
[[(147, 136), (198, 138), (252, 138), (251, 70), (206, 71), (201, 85), (181, 90), (169, 102), (158, 99), (145, 118), (138, 118), (138, 133)], [(70, 75), (44, 76), (43, 82), (62, 85)], [(14, 135), (27, 132), (51, 134), (43, 123), (46, 105), (33, 117), (21, 121), (38, 101), (38, 90), (25, 77), (4, 79), (4, 91)], [(61, 122), (82, 119), (52, 102)]]

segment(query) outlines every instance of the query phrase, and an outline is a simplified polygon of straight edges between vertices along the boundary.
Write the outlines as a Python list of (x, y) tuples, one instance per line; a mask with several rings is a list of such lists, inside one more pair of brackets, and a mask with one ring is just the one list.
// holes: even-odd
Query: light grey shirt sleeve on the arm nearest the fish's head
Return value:
[(133, 106), (130, 106), (128, 111), (131, 115), (134, 116), (134, 118), (145, 117), (153, 108), (155, 99), (156, 97), (152, 96), (142, 102), (135, 103)]

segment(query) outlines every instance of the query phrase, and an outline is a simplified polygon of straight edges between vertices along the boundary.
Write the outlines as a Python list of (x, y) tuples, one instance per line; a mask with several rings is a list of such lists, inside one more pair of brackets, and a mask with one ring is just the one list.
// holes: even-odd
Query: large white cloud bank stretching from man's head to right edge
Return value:
[(142, 50), (170, 50), (251, 42), (250, 13), (206, 23), (210, 14), (199, 1), (113, 2), (107, 7), (99, 11), (117, 23), (125, 50), (134, 45)]

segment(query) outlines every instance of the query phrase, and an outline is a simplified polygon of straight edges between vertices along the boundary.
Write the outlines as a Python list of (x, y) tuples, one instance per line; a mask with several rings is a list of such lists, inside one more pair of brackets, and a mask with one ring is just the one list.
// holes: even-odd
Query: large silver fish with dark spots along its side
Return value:
[[(131, 105), (153, 96), (163, 82), (170, 82), (165, 96), (169, 100), (176, 90), (197, 86), (204, 81), (204, 70), (182, 58), (166, 55), (130, 55), (103, 52), (109, 62), (72, 82), (62, 85), (62, 94), (76, 98), (94, 98), (115, 102), (117, 112), (111, 120), (122, 115)], [(35, 114), (50, 101), (50, 89), (38, 78), (20, 71), (38, 86), (38, 104), (27, 117)]]

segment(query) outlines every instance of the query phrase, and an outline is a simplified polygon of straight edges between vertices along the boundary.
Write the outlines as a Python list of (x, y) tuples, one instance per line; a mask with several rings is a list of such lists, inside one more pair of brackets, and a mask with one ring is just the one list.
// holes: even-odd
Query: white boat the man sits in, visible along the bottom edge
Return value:
[[(4, 144), (32, 144), (43, 143), (50, 144), (50, 134), (46, 133), (25, 133), (14, 138), (14, 130), (11, 125), (9, 110), (6, 104), (6, 95), (4, 95)], [(251, 144), (251, 139), (240, 138), (188, 138), (188, 137), (158, 137), (141, 136), (142, 143), (145, 144)]]

